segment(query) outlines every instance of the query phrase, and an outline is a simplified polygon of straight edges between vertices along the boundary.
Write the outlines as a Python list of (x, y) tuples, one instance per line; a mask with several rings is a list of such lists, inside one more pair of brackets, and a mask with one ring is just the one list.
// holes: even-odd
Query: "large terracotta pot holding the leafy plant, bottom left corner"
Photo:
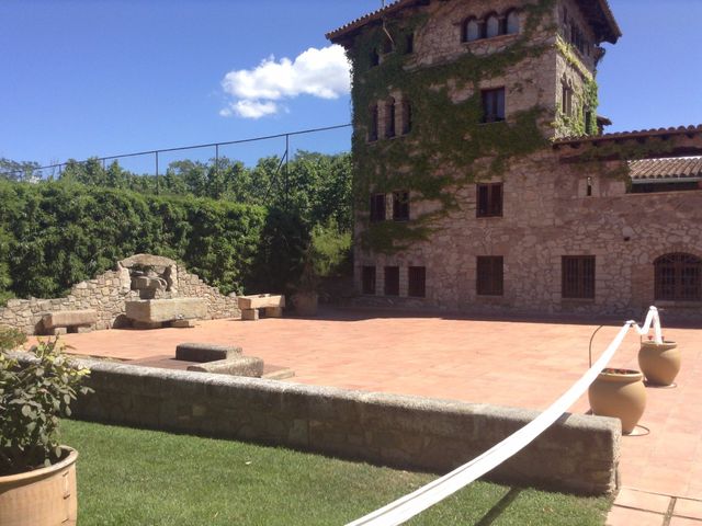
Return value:
[(0, 525), (75, 526), (78, 453), (63, 448), (68, 456), (54, 466), (0, 477)]

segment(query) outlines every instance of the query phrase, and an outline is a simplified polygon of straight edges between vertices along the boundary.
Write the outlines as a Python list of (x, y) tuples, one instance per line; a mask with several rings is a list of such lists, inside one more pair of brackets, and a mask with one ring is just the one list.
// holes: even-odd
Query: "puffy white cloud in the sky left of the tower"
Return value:
[(291, 60), (271, 56), (253, 69), (229, 71), (222, 80), (225, 93), (234, 99), (219, 112), (223, 116), (260, 118), (278, 113), (278, 101), (312, 95), (338, 99), (349, 93), (351, 73), (341, 46), (310, 47)]

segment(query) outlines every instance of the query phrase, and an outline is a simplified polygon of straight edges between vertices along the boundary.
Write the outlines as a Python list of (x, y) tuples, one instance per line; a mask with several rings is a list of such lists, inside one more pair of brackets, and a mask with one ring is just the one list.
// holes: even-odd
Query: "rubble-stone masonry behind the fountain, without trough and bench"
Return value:
[[(169, 290), (156, 290), (158, 299), (169, 298), (200, 298), (207, 306), (206, 319), (240, 318), (236, 296), (222, 295), (216, 288), (208, 286), (200, 277), (190, 274), (188, 270), (166, 258), (139, 254), (140, 256), (157, 258), (157, 260), (138, 260), (147, 263), (158, 263), (160, 266), (173, 267), (171, 276), (173, 283)], [(134, 258), (134, 256), (133, 256)], [(107, 271), (93, 279), (78, 283), (71, 287), (68, 296), (55, 299), (11, 299), (5, 308), (0, 309), (0, 324), (15, 327), (26, 334), (44, 332), (42, 317), (47, 312), (67, 310), (95, 310), (98, 320), (92, 329), (112, 329), (129, 325), (126, 319), (125, 302), (139, 299), (139, 290), (133, 289), (133, 277), (129, 274), (132, 259), (117, 263), (116, 270)], [(125, 266), (126, 265), (126, 266)]]

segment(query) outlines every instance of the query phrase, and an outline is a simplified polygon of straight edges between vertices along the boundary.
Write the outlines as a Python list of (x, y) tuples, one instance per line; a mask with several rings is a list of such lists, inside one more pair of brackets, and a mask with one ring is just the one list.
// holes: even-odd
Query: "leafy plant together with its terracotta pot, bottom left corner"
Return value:
[(22, 363), (8, 354), (24, 341), (0, 328), (0, 523), (75, 525), (78, 453), (58, 443), (59, 416), (88, 388), (88, 369), (63, 354), (58, 339), (33, 347)]

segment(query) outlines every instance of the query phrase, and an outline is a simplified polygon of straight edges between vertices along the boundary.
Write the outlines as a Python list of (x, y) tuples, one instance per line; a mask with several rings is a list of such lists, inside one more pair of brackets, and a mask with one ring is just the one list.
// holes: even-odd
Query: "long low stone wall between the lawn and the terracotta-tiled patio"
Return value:
[[(478, 456), (539, 414), (98, 361), (80, 364), (90, 367), (88, 385), (95, 392), (73, 403), (79, 419), (253, 441), (435, 472)], [(618, 420), (566, 414), (490, 478), (559, 491), (611, 493), (620, 441)]]

